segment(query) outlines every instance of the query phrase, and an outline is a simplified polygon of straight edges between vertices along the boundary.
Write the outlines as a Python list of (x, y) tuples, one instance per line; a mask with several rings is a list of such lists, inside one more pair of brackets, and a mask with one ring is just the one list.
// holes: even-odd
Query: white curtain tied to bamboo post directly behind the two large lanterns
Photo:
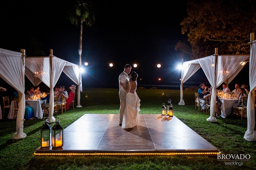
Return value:
[[(49, 123), (55, 122), (53, 117), (53, 88), (57, 83), (60, 74), (66, 64), (65, 60), (58, 57), (52, 57), (52, 67), (50, 67), (50, 57), (28, 57), (26, 59), (26, 67), (42, 80), (42, 82), (50, 88), (49, 100)], [(50, 80), (51, 79), (51, 80)]]

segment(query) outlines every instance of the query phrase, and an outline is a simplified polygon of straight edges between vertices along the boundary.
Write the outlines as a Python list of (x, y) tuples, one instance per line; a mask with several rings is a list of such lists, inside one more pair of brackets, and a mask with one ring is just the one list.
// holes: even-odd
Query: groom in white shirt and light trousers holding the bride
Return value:
[[(121, 81), (122, 83), (124, 83), (124, 86), (126, 87), (126, 82), (130, 81), (129, 79), (129, 73), (131, 72), (132, 67), (129, 64), (126, 64), (124, 66), (124, 71), (119, 75), (118, 78), (118, 84)], [(134, 90), (131, 89), (130, 93), (134, 93)], [(123, 123), (123, 117), (124, 117), (124, 109), (125, 109), (125, 98), (126, 98), (126, 91), (123, 89), (123, 87), (119, 84), (119, 98), (120, 98), (120, 110), (119, 110), (119, 114), (120, 114), (120, 120), (119, 120), (119, 126), (122, 126)]]

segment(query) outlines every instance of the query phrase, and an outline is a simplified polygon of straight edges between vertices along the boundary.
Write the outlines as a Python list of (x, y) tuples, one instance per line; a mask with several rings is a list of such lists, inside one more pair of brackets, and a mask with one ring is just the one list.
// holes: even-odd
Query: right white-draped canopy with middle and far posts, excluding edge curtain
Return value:
[[(180, 85), (179, 105), (185, 105), (183, 100), (183, 83), (188, 80), (200, 67), (202, 67), (212, 88), (211, 110), (208, 122), (217, 122), (215, 115), (215, 105), (217, 87), (224, 81), (230, 82), (249, 61), (250, 55), (218, 55), (218, 48), (215, 48), (215, 55), (186, 61), (183, 63)], [(229, 78), (230, 77), (230, 78)]]

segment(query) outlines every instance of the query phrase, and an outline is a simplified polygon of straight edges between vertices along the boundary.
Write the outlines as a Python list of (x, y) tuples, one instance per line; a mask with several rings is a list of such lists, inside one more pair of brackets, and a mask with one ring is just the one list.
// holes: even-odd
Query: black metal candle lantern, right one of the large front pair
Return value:
[(64, 144), (64, 134), (63, 128), (59, 125), (59, 117), (58, 121), (55, 122), (55, 125), (52, 127), (52, 148), (60, 148)]

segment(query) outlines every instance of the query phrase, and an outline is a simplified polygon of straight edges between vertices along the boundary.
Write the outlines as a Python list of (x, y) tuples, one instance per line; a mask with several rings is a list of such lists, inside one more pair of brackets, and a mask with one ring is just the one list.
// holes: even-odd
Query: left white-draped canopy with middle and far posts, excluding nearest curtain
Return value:
[[(63, 71), (74, 83), (78, 85), (78, 89), (80, 89), (78, 65), (53, 56), (52, 49), (51, 49), (50, 56), (26, 57), (25, 66), (34, 75), (36, 75), (45, 85), (47, 85), (50, 88), (49, 123), (55, 122), (55, 118), (53, 117), (53, 110), (54, 110), (53, 88), (56, 85), (61, 72)], [(26, 74), (26, 76), (27, 75), (29, 74)], [(30, 74), (30, 76), (32, 77), (32, 74)], [(32, 79), (31, 77), (29, 78), (29, 80)], [(82, 107), (80, 105), (79, 90), (77, 90), (77, 106), (76, 107)]]

